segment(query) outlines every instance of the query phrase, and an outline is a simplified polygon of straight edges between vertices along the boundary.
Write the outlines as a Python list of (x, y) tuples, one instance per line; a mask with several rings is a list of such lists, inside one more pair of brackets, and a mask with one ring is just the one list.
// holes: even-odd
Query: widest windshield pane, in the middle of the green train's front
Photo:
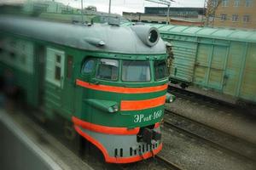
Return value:
[(149, 61), (123, 61), (122, 80), (124, 82), (149, 82), (150, 79)]

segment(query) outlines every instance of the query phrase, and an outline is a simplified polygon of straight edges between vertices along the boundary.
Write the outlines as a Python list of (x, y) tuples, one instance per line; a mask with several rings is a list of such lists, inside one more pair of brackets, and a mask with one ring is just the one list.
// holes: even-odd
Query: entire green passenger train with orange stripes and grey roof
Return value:
[(140, 161), (161, 150), (160, 122), (172, 96), (154, 27), (2, 16), (0, 56), (1, 76), (27, 104), (72, 122), (105, 161)]

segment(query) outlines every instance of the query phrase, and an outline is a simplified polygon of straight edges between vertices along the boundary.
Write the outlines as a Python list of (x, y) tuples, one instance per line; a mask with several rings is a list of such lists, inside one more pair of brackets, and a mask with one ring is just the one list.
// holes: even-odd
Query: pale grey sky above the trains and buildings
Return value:
[[(22, 2), (25, 0), (0, 0), (2, 2)], [(55, 0), (70, 6), (80, 8), (81, 0)], [(176, 3), (172, 3), (172, 7), (203, 7), (204, 0), (175, 0)], [(96, 6), (97, 10), (108, 12), (108, 0), (84, 0), (84, 6), (93, 5)], [(161, 7), (156, 3), (149, 3), (144, 0), (112, 0), (112, 13), (122, 14), (125, 12), (143, 12), (144, 7), (153, 6)]]

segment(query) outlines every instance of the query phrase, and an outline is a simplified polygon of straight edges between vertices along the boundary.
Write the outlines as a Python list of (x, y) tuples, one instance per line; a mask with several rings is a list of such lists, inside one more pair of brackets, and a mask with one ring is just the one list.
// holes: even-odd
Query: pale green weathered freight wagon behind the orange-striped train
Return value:
[(149, 26), (172, 44), (172, 84), (231, 103), (256, 103), (256, 31)]

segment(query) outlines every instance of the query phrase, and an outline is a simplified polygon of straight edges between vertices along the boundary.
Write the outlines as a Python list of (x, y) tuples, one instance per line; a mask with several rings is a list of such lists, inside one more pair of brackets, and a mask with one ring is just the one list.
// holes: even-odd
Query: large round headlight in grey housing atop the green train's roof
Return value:
[(136, 32), (137, 37), (139, 37), (144, 44), (150, 47), (154, 46), (159, 41), (160, 34), (155, 27), (131, 26), (131, 29)]

